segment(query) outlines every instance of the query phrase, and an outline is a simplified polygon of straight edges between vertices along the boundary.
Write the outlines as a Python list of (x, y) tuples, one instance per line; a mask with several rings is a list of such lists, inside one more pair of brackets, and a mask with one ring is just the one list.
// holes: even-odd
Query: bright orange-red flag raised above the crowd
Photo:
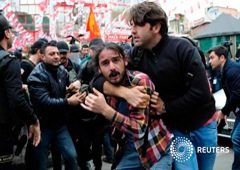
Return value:
[(92, 6), (90, 5), (89, 7), (90, 7), (90, 13), (88, 16), (87, 29), (86, 29), (86, 31), (90, 32), (89, 39), (91, 40), (93, 38), (101, 38), (100, 29), (94, 17)]

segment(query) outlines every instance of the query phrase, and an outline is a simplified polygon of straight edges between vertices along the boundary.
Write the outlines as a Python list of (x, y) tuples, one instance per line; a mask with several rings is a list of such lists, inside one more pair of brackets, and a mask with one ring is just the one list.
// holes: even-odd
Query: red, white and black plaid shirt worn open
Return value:
[[(144, 86), (147, 94), (151, 95), (154, 91), (154, 84), (150, 78), (139, 71), (126, 70), (125, 87)], [(107, 96), (108, 104), (117, 109), (118, 100), (112, 96)], [(139, 158), (145, 168), (152, 167), (165, 153), (165, 150), (173, 138), (172, 132), (164, 125), (163, 121), (152, 120), (148, 131), (149, 114), (159, 114), (156, 109), (150, 109), (149, 105), (145, 109), (134, 108), (128, 104), (129, 115), (125, 116), (118, 111), (114, 113), (112, 124), (114, 125), (113, 137), (116, 141), (121, 142), (125, 135), (132, 135), (135, 148)], [(116, 136), (115, 134), (119, 134)], [(148, 132), (147, 152), (142, 157), (144, 145), (144, 135)]]

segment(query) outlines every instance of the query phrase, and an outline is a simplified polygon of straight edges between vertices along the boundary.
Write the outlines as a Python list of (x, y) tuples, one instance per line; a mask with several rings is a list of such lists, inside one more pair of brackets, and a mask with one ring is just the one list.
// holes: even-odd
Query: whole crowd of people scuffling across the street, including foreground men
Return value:
[[(17, 59), (8, 52), (11, 26), (0, 15), (0, 169), (11, 169), (18, 125), (28, 127), (28, 142), (18, 142), (27, 143), (29, 170), (45, 170), (50, 153), (53, 169), (62, 169), (63, 159), (65, 169), (89, 170), (93, 160), (101, 170), (102, 145), (103, 160), (116, 170), (212, 170), (216, 152), (197, 148), (217, 147), (217, 125), (231, 111), (232, 169), (240, 168), (240, 65), (224, 46), (208, 51), (227, 95), (216, 111), (204, 54), (191, 40), (168, 35), (165, 11), (145, 1), (131, 7), (128, 22), (132, 47), (94, 38), (80, 49), (38, 39), (28, 58), (18, 51)], [(178, 139), (192, 146), (186, 161), (172, 154)]]

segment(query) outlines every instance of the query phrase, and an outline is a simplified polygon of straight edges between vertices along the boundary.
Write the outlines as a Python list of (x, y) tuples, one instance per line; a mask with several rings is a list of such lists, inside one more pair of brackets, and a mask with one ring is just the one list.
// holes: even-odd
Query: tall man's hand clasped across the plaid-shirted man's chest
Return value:
[(150, 96), (146, 93), (146, 89), (143, 86), (136, 86), (126, 89), (124, 99), (135, 108), (145, 109), (149, 105)]

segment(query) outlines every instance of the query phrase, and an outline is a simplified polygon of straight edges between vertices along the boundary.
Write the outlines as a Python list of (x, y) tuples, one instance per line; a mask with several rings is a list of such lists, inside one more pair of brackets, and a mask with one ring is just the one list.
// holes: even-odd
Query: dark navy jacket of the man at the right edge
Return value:
[(240, 64), (227, 59), (221, 71), (222, 85), (227, 96), (227, 102), (222, 108), (225, 115), (230, 111), (240, 109)]

